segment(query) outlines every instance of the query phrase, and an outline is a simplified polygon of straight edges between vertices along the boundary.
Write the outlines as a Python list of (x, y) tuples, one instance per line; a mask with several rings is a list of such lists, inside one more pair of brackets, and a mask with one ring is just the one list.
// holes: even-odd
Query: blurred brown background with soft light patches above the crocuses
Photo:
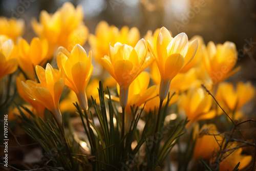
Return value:
[[(55, 12), (65, 0), (0, 0), (0, 15), (25, 19), (24, 38), (35, 36), (30, 20), (41, 10)], [(84, 22), (94, 33), (100, 20), (121, 28), (137, 27), (143, 37), (147, 30), (165, 26), (173, 36), (185, 32), (188, 38), (203, 36), (205, 43), (237, 45), (237, 65), (245, 66), (238, 79), (256, 78), (256, 1), (255, 0), (74, 0), (81, 4)], [(85, 45), (89, 48), (89, 44)], [(253, 81), (255, 82), (255, 81)]]

